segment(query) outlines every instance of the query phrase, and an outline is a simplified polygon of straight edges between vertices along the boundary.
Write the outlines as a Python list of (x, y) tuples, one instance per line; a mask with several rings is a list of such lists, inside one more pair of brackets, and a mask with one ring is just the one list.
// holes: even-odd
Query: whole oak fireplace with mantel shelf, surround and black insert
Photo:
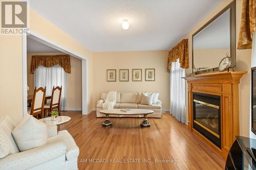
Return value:
[(195, 132), (225, 160), (240, 132), (239, 83), (246, 72), (212, 72), (184, 78), (188, 83), (188, 130)]

